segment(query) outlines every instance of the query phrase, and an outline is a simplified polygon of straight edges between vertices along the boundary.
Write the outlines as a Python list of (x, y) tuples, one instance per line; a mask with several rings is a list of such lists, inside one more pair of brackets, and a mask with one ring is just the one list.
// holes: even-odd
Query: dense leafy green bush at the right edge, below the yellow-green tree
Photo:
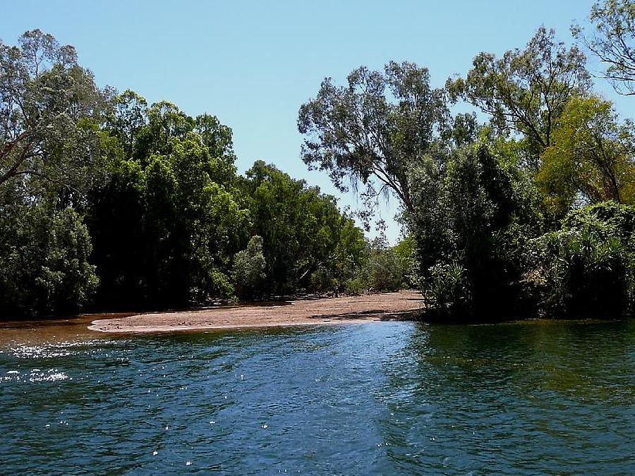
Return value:
[(604, 202), (574, 210), (534, 240), (532, 279), (551, 314), (620, 317), (635, 303), (635, 208)]

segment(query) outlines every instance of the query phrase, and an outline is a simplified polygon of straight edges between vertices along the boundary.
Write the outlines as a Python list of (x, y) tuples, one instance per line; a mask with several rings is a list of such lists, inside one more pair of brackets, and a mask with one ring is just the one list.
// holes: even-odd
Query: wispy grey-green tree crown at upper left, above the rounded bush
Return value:
[(68, 205), (99, 172), (105, 93), (52, 35), (32, 30), (19, 44), (0, 42), (0, 187), (52, 188)]

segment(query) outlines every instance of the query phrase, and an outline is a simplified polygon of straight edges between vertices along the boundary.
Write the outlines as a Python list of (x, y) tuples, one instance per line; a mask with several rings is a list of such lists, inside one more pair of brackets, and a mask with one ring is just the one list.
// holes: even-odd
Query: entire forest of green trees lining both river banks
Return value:
[[(571, 33), (440, 88), (409, 62), (325, 78), (298, 105), (301, 159), (358, 212), (273, 164), (237, 173), (216, 116), (100, 88), (52, 35), (0, 42), (0, 316), (404, 287), (427, 319), (632, 315), (635, 129), (586, 56), (632, 100), (635, 5), (600, 1)], [(395, 246), (355, 220), (388, 196)]]

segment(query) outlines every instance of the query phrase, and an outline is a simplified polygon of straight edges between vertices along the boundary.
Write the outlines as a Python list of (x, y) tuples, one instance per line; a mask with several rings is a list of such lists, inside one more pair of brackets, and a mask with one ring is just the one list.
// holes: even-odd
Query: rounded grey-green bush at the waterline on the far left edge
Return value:
[(0, 207), (0, 315), (77, 312), (97, 287), (90, 251), (73, 209)]

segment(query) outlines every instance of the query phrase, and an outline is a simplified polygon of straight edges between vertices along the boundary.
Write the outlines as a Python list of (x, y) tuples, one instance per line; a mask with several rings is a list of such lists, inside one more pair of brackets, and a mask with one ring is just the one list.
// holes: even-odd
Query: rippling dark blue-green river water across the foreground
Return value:
[(0, 472), (635, 474), (635, 322), (0, 342)]

